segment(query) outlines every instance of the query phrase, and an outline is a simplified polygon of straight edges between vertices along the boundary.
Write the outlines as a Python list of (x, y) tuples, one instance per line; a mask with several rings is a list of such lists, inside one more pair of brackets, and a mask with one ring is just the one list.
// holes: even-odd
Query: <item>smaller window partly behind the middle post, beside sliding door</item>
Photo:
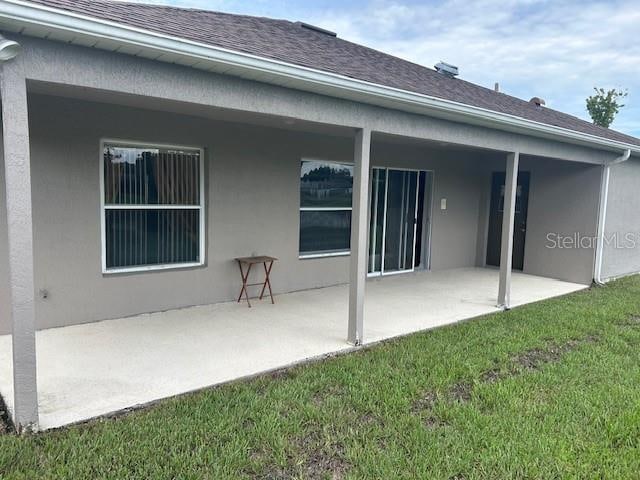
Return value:
[(303, 160), (300, 256), (345, 255), (351, 244), (353, 166)]

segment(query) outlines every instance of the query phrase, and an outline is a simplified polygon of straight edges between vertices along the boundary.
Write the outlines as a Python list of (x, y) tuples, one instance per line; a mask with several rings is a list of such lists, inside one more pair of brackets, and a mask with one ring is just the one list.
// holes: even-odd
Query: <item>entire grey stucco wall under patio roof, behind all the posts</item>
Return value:
[[(273, 272), (277, 293), (347, 281), (347, 257), (298, 258), (298, 189), (301, 158), (349, 162), (351, 139), (42, 95), (30, 98), (30, 122), (36, 291), (49, 292), (49, 298), (37, 298), (38, 328), (234, 299), (239, 276), (232, 259), (252, 253), (280, 259)], [(206, 266), (101, 273), (101, 138), (206, 149)], [(433, 171), (432, 268), (482, 265), (490, 178), (502, 169), (499, 156), (374, 139), (372, 165)], [(583, 181), (593, 180), (584, 172), (594, 167), (536, 159), (524, 160), (523, 168), (532, 170), (525, 271), (588, 282), (592, 263), (586, 254), (554, 256), (538, 237), (560, 228), (558, 222), (595, 228), (590, 200), (595, 194)], [(569, 200), (563, 202), (567, 192)], [(442, 198), (447, 199), (444, 211)], [(6, 252), (2, 203), (0, 251)], [(0, 282), (7, 285), (6, 254)], [(3, 288), (2, 333), (9, 330), (7, 300)]]

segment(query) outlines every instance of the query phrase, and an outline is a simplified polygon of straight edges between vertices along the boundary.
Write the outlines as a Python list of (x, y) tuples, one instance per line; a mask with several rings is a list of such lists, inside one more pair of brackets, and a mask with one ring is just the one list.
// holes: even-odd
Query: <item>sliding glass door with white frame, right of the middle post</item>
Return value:
[[(374, 168), (369, 273), (413, 271), (418, 225), (417, 170)], [(421, 220), (421, 219), (420, 219)]]

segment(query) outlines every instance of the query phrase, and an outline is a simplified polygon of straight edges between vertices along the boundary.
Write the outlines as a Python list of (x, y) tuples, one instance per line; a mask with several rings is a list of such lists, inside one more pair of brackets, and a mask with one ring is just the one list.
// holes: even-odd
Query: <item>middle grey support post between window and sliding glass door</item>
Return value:
[(364, 287), (367, 280), (369, 227), (369, 156), (371, 130), (359, 130), (355, 139), (353, 211), (351, 213), (351, 266), (349, 272), (348, 342), (361, 345), (364, 326)]

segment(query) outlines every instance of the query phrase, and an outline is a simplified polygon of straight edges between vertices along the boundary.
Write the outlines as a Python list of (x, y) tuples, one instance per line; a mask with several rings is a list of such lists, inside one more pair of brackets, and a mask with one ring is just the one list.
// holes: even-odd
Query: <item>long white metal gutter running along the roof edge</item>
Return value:
[(508, 131), (515, 130), (526, 135), (551, 137), (558, 141), (589, 145), (606, 150), (620, 151), (630, 149), (633, 153), (640, 154), (640, 146), (633, 144), (609, 140), (567, 128), (554, 127), (515, 115), (494, 112), (451, 100), (150, 32), (23, 0), (0, 0), (0, 19), (13, 21), (25, 26), (47, 27), (54, 31), (67, 32), (70, 36), (90, 36), (96, 38), (96, 40), (111, 40), (123, 45), (173, 53), (182, 57), (196, 59), (198, 63), (211, 62), (220, 66), (236, 67), (247, 72), (257, 72), (262, 76), (266, 75), (273, 78), (274, 81), (293, 80), (297, 84), (306, 85), (310, 91), (313, 91), (314, 87), (327, 87), (347, 94), (340, 95), (342, 98), (348, 98), (350, 94), (357, 96), (359, 101), (374, 105), (384, 102), (385, 104), (392, 104), (398, 110), (411, 108), (411, 111), (418, 109), (427, 115), (429, 113), (455, 115), (463, 123), (466, 120), (466, 122), (493, 128)]

